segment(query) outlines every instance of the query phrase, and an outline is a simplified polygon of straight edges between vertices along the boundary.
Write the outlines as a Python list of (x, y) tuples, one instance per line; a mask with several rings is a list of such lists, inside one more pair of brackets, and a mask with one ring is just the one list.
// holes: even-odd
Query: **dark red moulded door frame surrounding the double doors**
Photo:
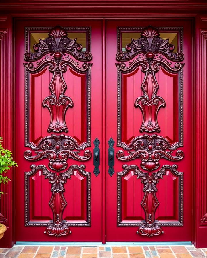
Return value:
[[(86, 1), (87, 2), (87, 1)], [(1, 76), (1, 136), (4, 138), (4, 146), (6, 148), (9, 148), (11, 150), (15, 149), (15, 138), (14, 138), (14, 121), (15, 121), (15, 76), (12, 76), (15, 72), (15, 63), (14, 63), (14, 56), (15, 56), (15, 35), (13, 34), (13, 28), (16, 24), (17, 20), (27, 20), (27, 19), (42, 19), (46, 20), (49, 18), (58, 19), (58, 20), (74, 20), (78, 19), (83, 21), (86, 19), (94, 20), (94, 19), (101, 19), (103, 21), (102, 30), (104, 32), (104, 36), (102, 38), (103, 48), (102, 53), (105, 53), (106, 50), (106, 37), (105, 37), (105, 28), (106, 28), (106, 19), (117, 19), (117, 20), (123, 20), (123, 19), (133, 19), (137, 21), (142, 21), (144, 19), (151, 19), (151, 20), (179, 20), (187, 19), (192, 23), (193, 28), (193, 38), (192, 38), (192, 85), (196, 85), (196, 87), (192, 87), (192, 103), (193, 103), (193, 117), (192, 117), (192, 124), (189, 126), (192, 126), (192, 132), (193, 132), (193, 146), (192, 149), (195, 150), (194, 157), (195, 160), (193, 162), (193, 168), (192, 171), (195, 171), (193, 175), (193, 181), (194, 184), (192, 185), (192, 191), (193, 191), (193, 200), (190, 200), (193, 202), (193, 214), (189, 214), (189, 216), (193, 215), (193, 225), (189, 225), (193, 227), (193, 236), (192, 236), (192, 243), (199, 248), (199, 247), (207, 247), (207, 243), (205, 243), (203, 239), (203, 235), (207, 234), (207, 168), (206, 168), (206, 152), (207, 147), (205, 145), (205, 135), (207, 134), (207, 125), (204, 123), (205, 121), (205, 110), (207, 109), (207, 100), (204, 97), (207, 94), (207, 76), (205, 75), (206, 69), (207, 69), (207, 15), (204, 15), (202, 12), (207, 9), (207, 5), (198, 4), (196, 7), (191, 6), (190, 4), (185, 5), (185, 10), (183, 11), (182, 5), (178, 5), (178, 9), (181, 8), (181, 11), (178, 11), (178, 13), (173, 13), (170, 11), (170, 5), (168, 5), (167, 1), (166, 6), (162, 6), (162, 10), (158, 11), (157, 5), (150, 5), (148, 12), (149, 13), (134, 13), (138, 9), (143, 9), (144, 7), (141, 7), (141, 5), (137, 4), (136, 7), (134, 7), (132, 4), (121, 4), (120, 3), (120, 10), (115, 11), (114, 14), (114, 4), (111, 3), (108, 7), (108, 11), (103, 11), (101, 7), (97, 7), (99, 1), (94, 2), (92, 5), (90, 3), (85, 3), (86, 6), (90, 6), (91, 9), (93, 9), (93, 13), (84, 13), (82, 7), (77, 7), (75, 3), (70, 4), (68, 6), (68, 13), (70, 15), (64, 14), (62, 15), (59, 10), (57, 13), (57, 10), (55, 7), (50, 8), (50, 13), (47, 15), (43, 15), (40, 13), (39, 10), (36, 10), (35, 8), (32, 10), (31, 14), (27, 14), (28, 10), (31, 8), (29, 2), (25, 3), (24, 7), (21, 7), (20, 4), (14, 4), (14, 5), (6, 5), (6, 4), (0, 4), (2, 5), (2, 11), (0, 12), (0, 20), (1, 20), (1, 28), (0, 28), (0, 50), (1, 50), (1, 67), (2, 67), (2, 73), (0, 73)], [(113, 1), (111, 1), (113, 2)], [(149, 1), (150, 2), (150, 1)], [(152, 1), (151, 1), (152, 2)], [(195, 1), (196, 2), (196, 1)], [(123, 3), (123, 2), (122, 2)], [(128, 7), (127, 12), (123, 13), (121, 7), (124, 9), (124, 7)], [(70, 7), (70, 9), (69, 9)], [(72, 8), (71, 8), (72, 7)], [(14, 9), (16, 8), (16, 10)], [(22, 9), (23, 8), (23, 9)], [(32, 7), (33, 8), (33, 7)], [(45, 10), (49, 8), (48, 4), (44, 5)], [(43, 10), (44, 10), (43, 8)], [(64, 6), (62, 7), (62, 12), (64, 10)], [(79, 8), (79, 9), (78, 9)], [(99, 8), (99, 11), (97, 11), (97, 8)], [(145, 7), (146, 8), (146, 7)], [(74, 9), (76, 9), (78, 14), (75, 13)], [(156, 14), (152, 14), (154, 10), (156, 9)], [(167, 13), (163, 13), (163, 10), (167, 11)], [(6, 11), (5, 11), (6, 10)], [(131, 14), (129, 14), (131, 11)], [(151, 12), (150, 12), (151, 11)], [(17, 12), (17, 13), (16, 13)], [(91, 11), (92, 12), (92, 11)], [(139, 11), (140, 12), (140, 11)], [(159, 13), (160, 12), (160, 13)], [(70, 16), (70, 17), (69, 17)], [(90, 17), (89, 17), (90, 16)], [(202, 52), (200, 52), (202, 51)], [(104, 61), (103, 61), (104, 62)], [(102, 80), (104, 82), (104, 78), (106, 76), (105, 74), (105, 68), (103, 69), (102, 74)], [(105, 94), (106, 94), (106, 85), (103, 83), (103, 123), (105, 121)], [(198, 126), (199, 125), (199, 126)], [(106, 133), (106, 124), (103, 124), (103, 136)], [(204, 135), (204, 138), (202, 138)], [(106, 140), (105, 140), (106, 141)], [(202, 144), (200, 144), (202, 143)], [(106, 146), (103, 142), (103, 146)], [(106, 147), (105, 149), (102, 149), (102, 159), (103, 159), (103, 171), (106, 170)], [(104, 154), (105, 153), (105, 154)], [(15, 160), (15, 154), (14, 154), (14, 160)], [(1, 203), (1, 214), (0, 219), (1, 221), (5, 221), (5, 224), (7, 226), (7, 231), (5, 233), (5, 236), (3, 238), (3, 241), (1, 241), (1, 247), (11, 247), (14, 245), (16, 239), (15, 239), (15, 232), (14, 232), (14, 224), (15, 222), (15, 203), (12, 201), (14, 200), (14, 187), (15, 187), (15, 178), (18, 176), (15, 174), (15, 169), (12, 169), (12, 172), (9, 174), (11, 177), (11, 182), (8, 184), (8, 186), (5, 187), (5, 191), (8, 193), (6, 195), (5, 200)], [(103, 177), (103, 184), (104, 184), (104, 193), (102, 196), (102, 200), (104, 201), (106, 199), (106, 178), (104, 176), (104, 173), (102, 173)], [(5, 208), (5, 205), (7, 209)], [(102, 242), (105, 243), (106, 241), (106, 221), (105, 221), (105, 213), (106, 213), (106, 206), (105, 202), (103, 202), (102, 207), (102, 216), (103, 216), (103, 224), (102, 224)]]

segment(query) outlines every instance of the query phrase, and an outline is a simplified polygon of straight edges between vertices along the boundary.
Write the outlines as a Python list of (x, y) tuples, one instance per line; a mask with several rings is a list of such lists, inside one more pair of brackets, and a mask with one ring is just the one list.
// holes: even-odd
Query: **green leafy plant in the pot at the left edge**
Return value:
[[(7, 170), (9, 170), (12, 166), (17, 166), (17, 163), (13, 161), (11, 151), (2, 147), (2, 142), (3, 138), (0, 137), (0, 184), (6, 184), (11, 179), (8, 178), (5, 173), (7, 173)], [(0, 191), (0, 197), (2, 194), (4, 194), (4, 192)]]

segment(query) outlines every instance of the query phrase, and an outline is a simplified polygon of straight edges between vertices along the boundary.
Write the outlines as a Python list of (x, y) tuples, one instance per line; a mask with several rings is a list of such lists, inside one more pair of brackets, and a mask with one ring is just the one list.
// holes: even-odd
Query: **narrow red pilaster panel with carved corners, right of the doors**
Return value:
[[(198, 180), (197, 193), (199, 198), (199, 222), (200, 225), (207, 225), (207, 173), (206, 173), (206, 67), (207, 67), (207, 30), (200, 29), (200, 52), (198, 57), (198, 81), (199, 85), (196, 92), (196, 178)], [(204, 122), (205, 121), (205, 122)], [(202, 139), (202, 144), (201, 144)]]

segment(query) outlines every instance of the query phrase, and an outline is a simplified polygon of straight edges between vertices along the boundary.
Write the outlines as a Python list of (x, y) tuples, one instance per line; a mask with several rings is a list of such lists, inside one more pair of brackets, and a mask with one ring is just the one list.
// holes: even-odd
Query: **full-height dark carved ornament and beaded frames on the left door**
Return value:
[[(28, 34), (26, 34), (26, 48), (28, 49)], [(89, 40), (89, 39), (88, 39)], [(90, 41), (90, 40), (89, 40)], [(88, 41), (88, 46), (90, 45)], [(89, 50), (90, 51), (90, 50)], [(72, 57), (75, 58), (72, 59)], [(90, 52), (82, 52), (81, 44), (76, 42), (76, 39), (68, 38), (66, 30), (60, 26), (51, 28), (48, 37), (39, 39), (39, 43), (34, 45), (34, 52), (26, 52), (24, 60), (28, 61), (24, 64), (26, 70), (26, 84), (25, 84), (25, 145), (32, 150), (26, 150), (24, 157), (30, 161), (39, 161), (43, 158), (49, 159), (48, 167), (53, 171), (49, 171), (44, 165), (31, 165), (32, 171), (25, 173), (26, 181), (26, 226), (45, 226), (46, 222), (30, 222), (28, 216), (28, 176), (36, 173), (38, 169), (43, 171), (45, 178), (49, 178), (51, 183), (52, 197), (49, 205), (53, 211), (53, 220), (47, 222), (47, 229), (45, 233), (48, 235), (67, 235), (71, 233), (69, 225), (72, 226), (90, 226), (90, 173), (84, 171), (85, 165), (72, 165), (69, 168), (67, 160), (72, 158), (78, 161), (86, 161), (91, 158), (91, 151), (84, 149), (91, 145), (91, 122), (90, 122), (90, 73), (92, 59)], [(81, 64), (80, 62), (81, 61)], [(50, 124), (48, 125), (48, 132), (68, 132), (68, 127), (65, 120), (65, 115), (68, 107), (72, 108), (73, 100), (65, 95), (67, 85), (63, 77), (63, 73), (67, 69), (72, 69), (78, 74), (85, 75), (85, 92), (86, 92), (86, 140), (78, 144), (78, 142), (71, 136), (64, 134), (51, 134), (39, 140), (37, 144), (30, 142), (28, 137), (28, 121), (30, 115), (28, 108), (30, 108), (30, 74), (37, 74), (46, 69), (52, 73), (52, 79), (48, 85), (50, 96), (45, 97), (42, 102), (43, 107), (47, 107), (50, 112)], [(70, 133), (70, 132), (69, 132)], [(83, 155), (81, 155), (83, 151)], [(67, 169), (67, 170), (66, 170)], [(87, 221), (74, 222), (68, 224), (66, 220), (62, 219), (63, 210), (66, 206), (66, 200), (63, 192), (64, 184), (67, 179), (77, 169), (80, 173), (87, 176)], [(63, 171), (64, 172), (60, 172)], [(65, 171), (66, 170), (66, 171)]]

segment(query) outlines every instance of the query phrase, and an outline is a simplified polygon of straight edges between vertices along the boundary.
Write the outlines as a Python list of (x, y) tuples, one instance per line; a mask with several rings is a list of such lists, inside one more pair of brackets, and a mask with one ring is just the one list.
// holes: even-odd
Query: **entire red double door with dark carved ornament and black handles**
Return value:
[(16, 241), (191, 241), (189, 24), (15, 34)]

